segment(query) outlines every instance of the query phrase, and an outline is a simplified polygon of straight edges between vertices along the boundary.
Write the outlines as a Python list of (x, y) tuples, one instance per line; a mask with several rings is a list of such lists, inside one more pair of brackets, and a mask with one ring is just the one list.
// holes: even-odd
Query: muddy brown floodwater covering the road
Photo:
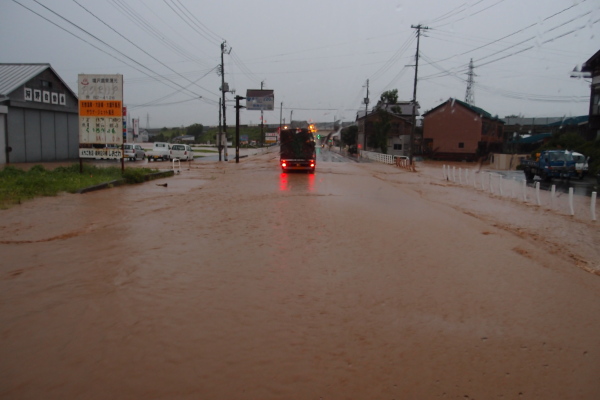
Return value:
[(0, 211), (0, 397), (600, 398), (597, 222), (441, 175), (266, 154)]

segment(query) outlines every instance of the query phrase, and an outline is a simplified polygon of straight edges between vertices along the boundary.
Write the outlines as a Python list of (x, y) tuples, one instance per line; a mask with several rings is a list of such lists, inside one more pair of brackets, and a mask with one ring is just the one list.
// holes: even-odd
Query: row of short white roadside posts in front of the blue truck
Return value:
[[(574, 201), (573, 188), (569, 193), (557, 193), (556, 185), (552, 185), (550, 191), (540, 190), (540, 182), (536, 181), (534, 187), (527, 186), (525, 178), (505, 179), (502, 174), (489, 171), (475, 171), (467, 168), (456, 168), (447, 165), (442, 166), (443, 179), (464, 186), (473, 186), (475, 189), (488, 191), (493, 195), (517, 199), (524, 203), (545, 206), (569, 215), (583, 216), (589, 210), (589, 217), (596, 221), (596, 199), (597, 193), (592, 192), (589, 208), (587, 202)], [(578, 196), (579, 197), (579, 196)]]

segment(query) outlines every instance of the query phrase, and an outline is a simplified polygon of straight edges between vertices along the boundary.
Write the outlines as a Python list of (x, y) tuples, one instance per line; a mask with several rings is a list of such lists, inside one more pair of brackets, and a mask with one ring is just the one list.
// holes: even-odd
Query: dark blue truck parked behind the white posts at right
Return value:
[(538, 153), (535, 160), (521, 159), (521, 166), (527, 180), (532, 180), (536, 176), (543, 180), (570, 179), (576, 175), (573, 156), (565, 150), (542, 151)]

